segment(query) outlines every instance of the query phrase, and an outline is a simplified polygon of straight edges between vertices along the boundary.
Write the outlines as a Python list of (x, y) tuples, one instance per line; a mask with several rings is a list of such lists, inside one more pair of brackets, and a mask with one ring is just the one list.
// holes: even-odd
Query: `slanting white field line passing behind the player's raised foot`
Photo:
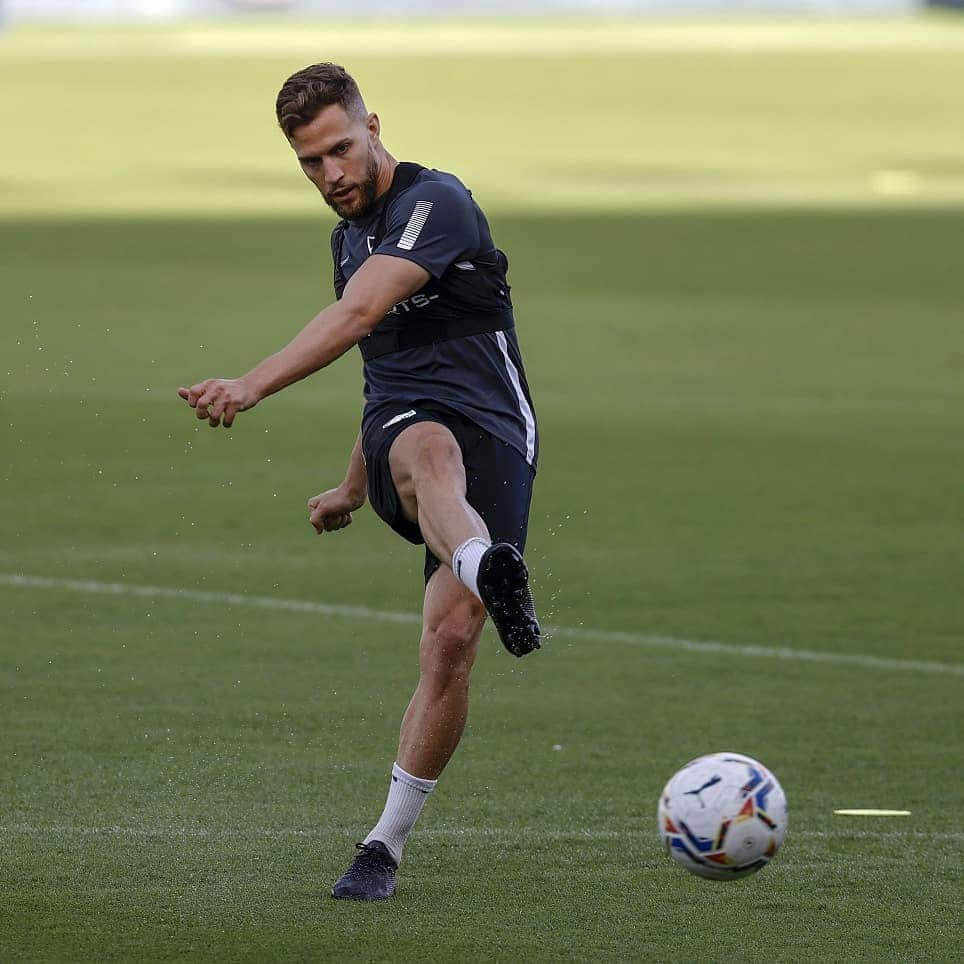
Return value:
[[(27, 576), (21, 573), (0, 573), (0, 585), (23, 589), (62, 589), (92, 595), (176, 599), (216, 605), (248, 606), (254, 609), (313, 613), (320, 616), (344, 616), (349, 619), (364, 619), (372, 622), (403, 623), (406, 625), (419, 625), (421, 623), (421, 617), (416, 613), (369, 609), (367, 606), (345, 606), (339, 603), (282, 599), (277, 596), (248, 596), (240, 593), (214, 592), (207, 589), (176, 589), (169, 586), (138, 586), (117, 582), (55, 579), (47, 576)], [(782, 659), (801, 663), (832, 663), (841, 666), (858, 666), (864, 669), (893, 670), (904, 673), (942, 673), (951, 676), (964, 676), (964, 664), (961, 663), (937, 663), (925, 660), (872, 656), (862, 653), (831, 653), (820, 650), (790, 649), (780, 646), (738, 645), (713, 640), (681, 639), (676, 636), (661, 636), (653, 633), (613, 632), (587, 627), (546, 626), (545, 633), (550, 639), (620, 643), (629, 646), (659, 647), (725, 656)]]

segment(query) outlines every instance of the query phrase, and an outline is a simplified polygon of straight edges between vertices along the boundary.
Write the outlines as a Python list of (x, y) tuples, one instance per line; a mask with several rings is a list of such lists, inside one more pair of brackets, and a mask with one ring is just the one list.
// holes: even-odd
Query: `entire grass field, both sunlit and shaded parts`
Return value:
[[(964, 24), (339, 29), (0, 37), (0, 959), (958, 959)], [(271, 114), (328, 56), (512, 260), (555, 627), (524, 661), (487, 630), (377, 906), (326, 895), (421, 558), (304, 508), (359, 361), (230, 433), (175, 396), (330, 297)], [(722, 885), (655, 830), (718, 749), (791, 808)]]

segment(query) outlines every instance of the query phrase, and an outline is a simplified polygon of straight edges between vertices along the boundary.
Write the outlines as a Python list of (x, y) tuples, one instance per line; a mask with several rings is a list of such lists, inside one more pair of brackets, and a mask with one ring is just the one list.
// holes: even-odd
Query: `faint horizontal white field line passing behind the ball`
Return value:
[[(280, 840), (283, 838), (312, 838), (330, 836), (352, 836), (358, 827), (319, 826), (319, 827), (132, 827), (102, 826), (82, 827), (70, 824), (9, 824), (0, 826), (0, 836), (11, 837), (134, 837), (161, 839), (206, 838), (211, 840), (231, 838), (253, 838)], [(419, 837), (433, 838), (482, 838), (487, 840), (625, 840), (640, 833), (648, 833), (649, 828), (630, 828), (606, 830), (596, 827), (573, 828), (570, 830), (548, 827), (427, 827), (417, 831)], [(790, 837), (807, 840), (845, 840), (850, 838), (869, 840), (939, 840), (960, 842), (964, 832), (942, 830), (793, 830)]]

